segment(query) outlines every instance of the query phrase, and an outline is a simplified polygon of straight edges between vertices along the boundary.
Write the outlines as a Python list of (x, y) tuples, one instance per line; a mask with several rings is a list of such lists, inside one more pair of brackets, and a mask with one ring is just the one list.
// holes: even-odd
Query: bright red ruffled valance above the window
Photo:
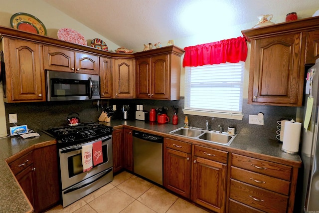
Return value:
[(226, 62), (237, 63), (245, 61), (247, 57), (247, 43), (244, 37), (187, 46), (184, 50), (184, 67)]

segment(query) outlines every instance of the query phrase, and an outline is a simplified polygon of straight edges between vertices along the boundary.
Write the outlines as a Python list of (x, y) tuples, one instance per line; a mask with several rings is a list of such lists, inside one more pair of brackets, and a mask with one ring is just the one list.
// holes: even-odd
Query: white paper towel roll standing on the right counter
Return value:
[(284, 141), (282, 151), (297, 154), (299, 151), (301, 123), (286, 122), (284, 129)]

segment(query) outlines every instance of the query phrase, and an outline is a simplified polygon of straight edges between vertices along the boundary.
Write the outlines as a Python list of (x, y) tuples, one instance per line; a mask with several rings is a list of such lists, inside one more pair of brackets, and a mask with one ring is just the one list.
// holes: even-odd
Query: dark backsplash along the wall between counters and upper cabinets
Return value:
[[(183, 126), (184, 117), (184, 97), (177, 101), (162, 100), (142, 100), (142, 99), (111, 99), (100, 100), (102, 106), (117, 106), (117, 111), (121, 111), (123, 104), (130, 105), (130, 119), (135, 119), (137, 104), (143, 104), (143, 109), (149, 111), (151, 108), (167, 107), (167, 115), (170, 119), (173, 116), (173, 106), (178, 108), (178, 125)], [(29, 129), (41, 131), (50, 127), (67, 125), (66, 118), (69, 113), (79, 114), (81, 122), (98, 121), (101, 114), (101, 107), (98, 110), (96, 101), (61, 101), (61, 102), (39, 102), (39, 103), (5, 103), (5, 114), (17, 114), (17, 125), (26, 124)], [(264, 114), (264, 125), (248, 124), (249, 115)], [(209, 122), (209, 129), (218, 130), (221, 125), (223, 131), (227, 131), (228, 126), (234, 126), (236, 133), (258, 134), (260, 137), (276, 139), (277, 121), (281, 118), (296, 119), (297, 107), (249, 105), (247, 99), (243, 99), (243, 120), (223, 119), (205, 116), (187, 115), (189, 125), (193, 127), (205, 128), (205, 119)], [(116, 114), (112, 119), (121, 119), (121, 113)], [(7, 129), (13, 124), (6, 121)]]

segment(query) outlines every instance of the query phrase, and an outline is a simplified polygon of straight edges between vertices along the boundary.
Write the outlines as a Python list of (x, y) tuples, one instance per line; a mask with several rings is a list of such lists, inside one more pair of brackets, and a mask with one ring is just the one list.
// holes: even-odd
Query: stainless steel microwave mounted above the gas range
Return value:
[(46, 70), (48, 101), (100, 99), (98, 75)]

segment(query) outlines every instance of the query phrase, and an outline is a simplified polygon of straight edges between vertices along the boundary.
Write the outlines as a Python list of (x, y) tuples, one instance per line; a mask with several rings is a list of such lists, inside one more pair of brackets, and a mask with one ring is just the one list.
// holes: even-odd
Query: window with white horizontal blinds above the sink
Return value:
[(185, 111), (241, 114), (244, 62), (186, 67)]

